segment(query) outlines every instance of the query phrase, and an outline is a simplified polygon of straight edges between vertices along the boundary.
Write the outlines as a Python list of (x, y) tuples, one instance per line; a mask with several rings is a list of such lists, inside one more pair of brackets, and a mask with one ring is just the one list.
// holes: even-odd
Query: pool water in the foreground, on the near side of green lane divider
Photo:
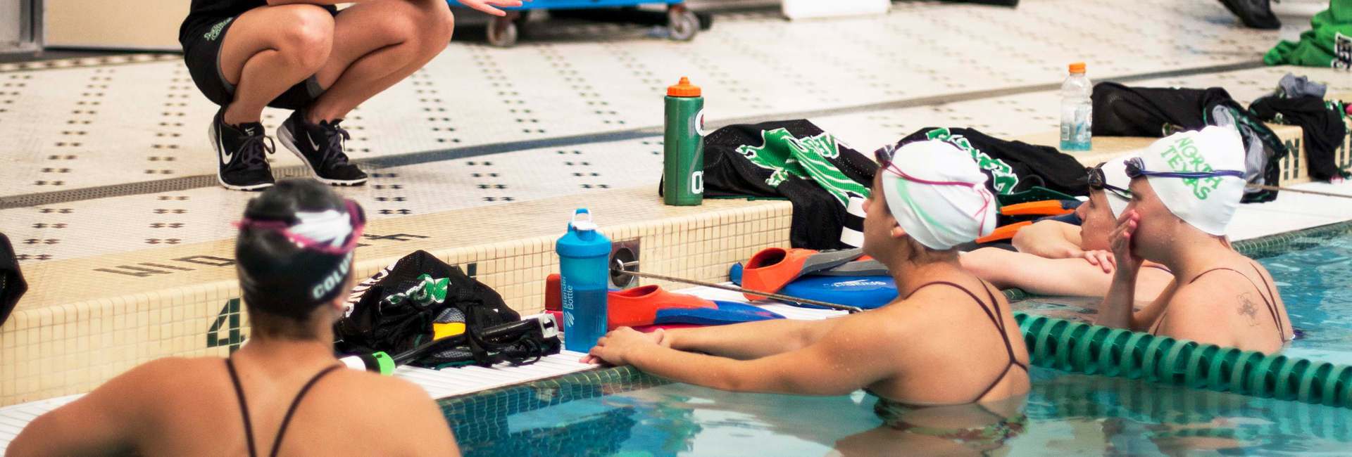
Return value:
[[(648, 375), (508, 388), (515, 400), (454, 404), (466, 456), (1345, 454), (1352, 411), (1037, 368), (1023, 431), (936, 446), (882, 426), (876, 398), (730, 394)], [(983, 423), (972, 423), (982, 426)], [(926, 449), (921, 452), (919, 449)], [(936, 452), (934, 449), (942, 449)]]

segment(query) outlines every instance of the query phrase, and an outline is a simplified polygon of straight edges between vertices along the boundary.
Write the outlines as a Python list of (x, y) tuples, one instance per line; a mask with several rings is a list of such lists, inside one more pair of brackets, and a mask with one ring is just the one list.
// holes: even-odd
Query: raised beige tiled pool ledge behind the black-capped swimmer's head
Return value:
[[(385, 225), (397, 224), (403, 239), (411, 239), (410, 233), (423, 239), (416, 239), (420, 243), (364, 247), (358, 251), (356, 271), (358, 276), (369, 276), (408, 252), (426, 249), (461, 266), (502, 294), (512, 309), (526, 314), (544, 307), (545, 276), (558, 270), (553, 253), (558, 235), (546, 233), (556, 232), (553, 226), (561, 233), (573, 206), (589, 205), (602, 232), (612, 240), (638, 240), (641, 268), (662, 275), (722, 280), (729, 264), (761, 248), (788, 243), (792, 209), (786, 201), (711, 200), (703, 206), (671, 208), (650, 194), (652, 189), (614, 190), (389, 220)], [(469, 214), (479, 217), (466, 217)], [(492, 243), (466, 239), (483, 231), (465, 225), (480, 225), (484, 218), (504, 221), (499, 232), (506, 235), (500, 233), (503, 236)], [(373, 224), (376, 233), (393, 233), (381, 232), (379, 225)], [(535, 235), (510, 237), (530, 232)], [(184, 248), (222, 253), (212, 257), (228, 260), (233, 259), (231, 243), (222, 240)], [(174, 252), (174, 257), (183, 259), (178, 253)], [(120, 256), (81, 259), (82, 266), (70, 262), (61, 267), (89, 271), (108, 260), (104, 257)], [(206, 257), (197, 257), (201, 259)], [(35, 284), (38, 298), (26, 298), (0, 326), (0, 406), (87, 392), (158, 357), (227, 355), (230, 346), (247, 334), (247, 317), (239, 305), (234, 267), (223, 260), (210, 262), (218, 267), (184, 271), (201, 276), (195, 283), (162, 280), (157, 278), (160, 274), (127, 275), (127, 282), (142, 282), (134, 293), (115, 294), (119, 288), (105, 284), (110, 286), (104, 290), (107, 297), (68, 302), (59, 299), (64, 284)], [(161, 282), (168, 284), (155, 288)]]

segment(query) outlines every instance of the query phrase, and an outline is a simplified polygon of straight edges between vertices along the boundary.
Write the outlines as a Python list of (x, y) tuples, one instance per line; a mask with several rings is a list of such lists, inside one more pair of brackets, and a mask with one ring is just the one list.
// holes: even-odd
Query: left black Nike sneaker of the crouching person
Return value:
[(262, 135), (262, 124), (227, 125), (226, 109), (211, 120), (207, 138), (216, 151), (216, 181), (231, 190), (260, 190), (273, 185), (268, 154), (273, 154), (272, 139)]

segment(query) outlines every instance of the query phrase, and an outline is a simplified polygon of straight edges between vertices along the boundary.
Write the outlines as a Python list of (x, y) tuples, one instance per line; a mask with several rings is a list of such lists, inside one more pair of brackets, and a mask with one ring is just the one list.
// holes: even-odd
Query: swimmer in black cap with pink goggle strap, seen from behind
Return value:
[(334, 357), (364, 224), (361, 206), (314, 181), (249, 201), (235, 241), (247, 344), (132, 368), (34, 419), (7, 456), (458, 456), (420, 387)]

